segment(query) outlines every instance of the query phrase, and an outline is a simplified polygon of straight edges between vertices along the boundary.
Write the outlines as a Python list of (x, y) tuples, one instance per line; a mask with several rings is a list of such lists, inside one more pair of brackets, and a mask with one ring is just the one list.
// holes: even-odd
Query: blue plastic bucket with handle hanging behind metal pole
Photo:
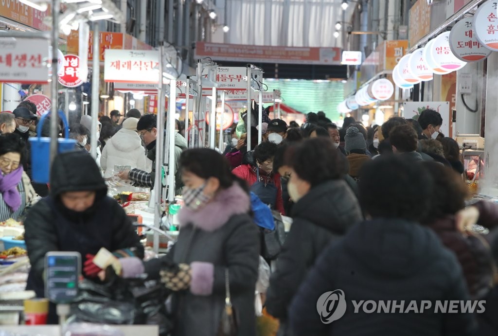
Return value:
[[(42, 115), (38, 123), (37, 136), (29, 138), (31, 143), (31, 166), (32, 166), (32, 180), (37, 183), (48, 183), (50, 181), (50, 138), (41, 136), (41, 129), (43, 122), (47, 115)], [(64, 122), (64, 139), (57, 139), (57, 153), (63, 153), (74, 150), (76, 146), (75, 139), (69, 139), (69, 125), (67, 123), (64, 112), (59, 110), (59, 116)]]

